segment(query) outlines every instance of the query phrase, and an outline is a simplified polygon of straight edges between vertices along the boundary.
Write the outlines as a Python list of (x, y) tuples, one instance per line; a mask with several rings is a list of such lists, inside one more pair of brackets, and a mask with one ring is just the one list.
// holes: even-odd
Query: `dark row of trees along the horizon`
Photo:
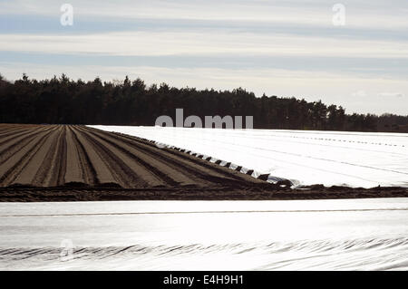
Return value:
[(354, 130), (408, 132), (408, 115), (346, 114), (336, 105), (277, 96), (256, 97), (238, 88), (233, 91), (198, 91), (166, 83), (147, 87), (131, 82), (72, 81), (65, 74), (36, 81), (25, 74), (8, 82), (0, 75), (0, 122), (154, 125), (160, 115), (252, 115), (255, 129)]

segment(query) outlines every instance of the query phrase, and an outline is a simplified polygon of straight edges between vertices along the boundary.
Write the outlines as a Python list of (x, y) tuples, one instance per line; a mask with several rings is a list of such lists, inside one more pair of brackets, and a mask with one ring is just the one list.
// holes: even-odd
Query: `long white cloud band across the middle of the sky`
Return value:
[[(86, 35), (0, 34), (0, 51), (109, 55), (301, 55), (408, 58), (408, 43), (285, 34), (123, 32)], [(330, 65), (330, 63), (327, 63)]]

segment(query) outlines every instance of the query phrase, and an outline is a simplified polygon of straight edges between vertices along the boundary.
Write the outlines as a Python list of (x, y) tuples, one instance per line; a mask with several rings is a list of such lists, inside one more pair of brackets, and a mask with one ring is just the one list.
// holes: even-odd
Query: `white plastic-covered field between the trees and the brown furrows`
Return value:
[(408, 134), (91, 126), (199, 152), (296, 185), (408, 187)]

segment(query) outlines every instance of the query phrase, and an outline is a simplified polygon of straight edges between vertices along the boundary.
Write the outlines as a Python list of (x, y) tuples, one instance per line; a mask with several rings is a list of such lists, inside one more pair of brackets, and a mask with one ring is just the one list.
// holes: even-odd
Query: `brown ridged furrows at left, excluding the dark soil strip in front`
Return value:
[(245, 174), (135, 138), (71, 125), (1, 125), (1, 187), (214, 188)]

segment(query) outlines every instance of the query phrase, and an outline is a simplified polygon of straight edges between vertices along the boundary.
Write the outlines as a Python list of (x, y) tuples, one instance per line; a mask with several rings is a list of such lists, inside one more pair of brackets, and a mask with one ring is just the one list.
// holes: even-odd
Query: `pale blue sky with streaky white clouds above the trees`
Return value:
[(0, 0), (0, 73), (129, 75), (408, 115), (408, 1), (340, 1)]

